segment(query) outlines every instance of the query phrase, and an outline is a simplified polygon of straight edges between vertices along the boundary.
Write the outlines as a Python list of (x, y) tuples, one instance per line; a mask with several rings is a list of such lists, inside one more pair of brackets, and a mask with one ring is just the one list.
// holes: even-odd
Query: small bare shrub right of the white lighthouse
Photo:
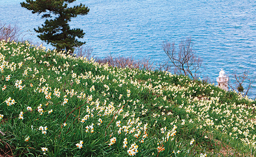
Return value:
[[(255, 80), (251, 80), (249, 77), (248, 77), (248, 71), (245, 70), (242, 72), (242, 74), (238, 74), (237, 71), (235, 71), (233, 73), (233, 76), (234, 76), (234, 79), (235, 79), (235, 87), (233, 87), (230, 83), (228, 83), (229, 87), (231, 87), (231, 89), (233, 91), (238, 91), (239, 93), (242, 93), (244, 92), (244, 96), (246, 96), (248, 94), (248, 91), (251, 89), (251, 84), (255, 82)], [(243, 83), (245, 81), (248, 81), (249, 84), (248, 84), (248, 87), (247, 89), (245, 90), (244, 89), (244, 86), (243, 86)]]

